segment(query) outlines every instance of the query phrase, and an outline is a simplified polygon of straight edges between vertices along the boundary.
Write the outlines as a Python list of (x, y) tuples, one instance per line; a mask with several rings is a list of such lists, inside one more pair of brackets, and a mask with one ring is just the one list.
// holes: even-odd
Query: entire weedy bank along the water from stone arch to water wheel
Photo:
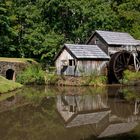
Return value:
[(57, 75), (55, 71), (43, 71), (39, 65), (32, 65), (17, 76), (17, 82), (24, 85), (103, 86), (106, 81), (105, 76), (96, 74), (81, 77)]

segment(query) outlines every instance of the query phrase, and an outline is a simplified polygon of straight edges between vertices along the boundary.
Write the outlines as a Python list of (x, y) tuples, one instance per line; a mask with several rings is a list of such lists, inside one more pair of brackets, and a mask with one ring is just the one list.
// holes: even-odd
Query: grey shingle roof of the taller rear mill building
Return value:
[[(130, 34), (125, 32), (96, 30), (94, 34), (96, 33), (101, 36), (108, 45), (138, 45), (137, 40), (135, 40)], [(88, 42), (92, 39), (94, 34), (91, 36)]]

